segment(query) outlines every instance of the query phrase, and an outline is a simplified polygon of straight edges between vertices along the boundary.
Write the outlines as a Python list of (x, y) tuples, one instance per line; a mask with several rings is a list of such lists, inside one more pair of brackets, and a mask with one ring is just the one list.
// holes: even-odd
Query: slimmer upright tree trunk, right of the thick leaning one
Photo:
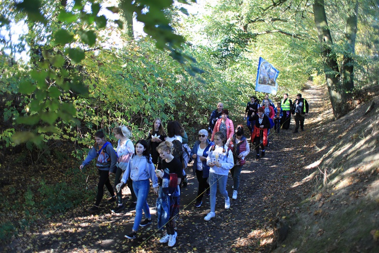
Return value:
[(344, 58), (341, 65), (341, 74), (343, 81), (343, 89), (346, 90), (347, 96), (350, 97), (349, 92), (354, 89), (354, 55), (355, 55), (355, 38), (357, 36), (357, 22), (358, 22), (358, 1), (355, 2), (354, 10), (351, 11), (348, 19), (346, 20), (345, 27), (345, 40), (346, 47)]

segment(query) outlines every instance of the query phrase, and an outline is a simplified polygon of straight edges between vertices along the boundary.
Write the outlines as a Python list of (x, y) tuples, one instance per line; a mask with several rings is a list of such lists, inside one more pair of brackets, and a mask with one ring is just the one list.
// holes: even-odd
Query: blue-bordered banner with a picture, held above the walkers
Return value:
[(279, 71), (276, 68), (274, 68), (274, 66), (268, 63), (262, 57), (259, 57), (255, 91), (275, 95), (277, 91), (276, 77), (278, 76), (278, 74)]

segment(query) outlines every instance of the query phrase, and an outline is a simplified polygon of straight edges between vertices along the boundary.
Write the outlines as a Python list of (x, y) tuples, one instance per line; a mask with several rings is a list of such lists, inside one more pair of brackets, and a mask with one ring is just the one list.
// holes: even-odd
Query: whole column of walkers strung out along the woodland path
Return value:
[[(288, 104), (290, 104), (289, 108)], [(294, 104), (296, 106), (292, 112), (295, 113), (295, 119), (298, 118), (295, 129), (297, 132), (299, 125), (302, 130), (304, 129), (304, 119), (302, 120), (301, 115), (297, 113), (308, 113), (308, 103), (301, 99), (301, 94), (298, 94)], [(288, 114), (288, 112), (291, 113), (291, 109), (293, 109), (292, 101), (288, 99), (288, 95), (281, 103), (278, 102), (275, 108), (268, 99), (268, 95), (261, 105), (257, 103), (255, 97), (251, 97), (246, 107), (245, 117), (257, 159), (260, 157), (259, 147), (262, 148), (261, 157), (265, 156), (270, 129), (275, 126), (278, 133), (280, 128), (286, 129), (286, 120), (289, 121), (291, 117), (291, 114)], [(210, 200), (210, 212), (204, 220), (209, 221), (216, 216), (217, 187), (224, 198), (225, 209), (229, 209), (227, 177), (230, 171), (233, 179), (232, 199), (237, 199), (240, 175), (246, 156), (250, 153), (250, 145), (244, 134), (244, 126), (239, 124), (234, 129), (233, 121), (228, 118), (228, 115), (228, 110), (223, 109), (222, 103), (218, 103), (217, 109), (211, 113), (208, 130), (201, 129), (198, 132), (198, 140), (192, 149), (188, 148), (187, 134), (178, 121), (169, 121), (166, 132), (161, 120), (155, 118), (148, 138), (138, 140), (135, 146), (130, 140), (132, 135), (130, 129), (125, 125), (117, 126), (113, 130), (118, 140), (116, 149), (105, 140), (102, 131), (96, 132), (95, 145), (79, 166), (82, 170), (92, 159), (97, 158), (98, 193), (96, 202), (89, 212), (94, 213), (99, 210), (104, 195), (104, 185), (111, 194), (108, 201), (116, 202), (112, 212), (122, 212), (126, 208), (122, 200), (122, 189), (127, 185), (131, 191), (131, 203), (128, 209), (135, 207), (135, 219), (132, 231), (125, 237), (134, 239), (139, 227), (152, 223), (147, 202), (151, 181), (154, 193), (157, 195), (158, 229), (166, 231), (159, 242), (168, 242), (168, 246), (172, 247), (176, 243), (177, 232), (174, 228), (179, 214), (180, 192), (187, 182), (184, 169), (187, 166), (187, 159), (190, 158), (194, 160), (193, 174), (199, 183), (195, 207), (203, 205), (204, 195), (209, 196)], [(188, 152), (187, 159), (185, 158), (186, 151)], [(111, 173), (116, 175), (114, 182), (116, 192), (109, 180)], [(145, 213), (144, 221), (142, 221), (143, 212)]]

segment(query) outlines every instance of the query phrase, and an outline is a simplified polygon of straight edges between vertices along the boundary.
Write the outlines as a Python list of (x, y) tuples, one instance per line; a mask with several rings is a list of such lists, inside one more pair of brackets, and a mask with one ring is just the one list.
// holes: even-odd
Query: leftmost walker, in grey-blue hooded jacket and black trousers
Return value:
[(111, 182), (109, 181), (109, 175), (111, 175), (111, 173), (115, 173), (116, 171), (117, 153), (113, 149), (112, 144), (105, 141), (103, 131), (96, 132), (94, 134), (94, 139), (94, 146), (89, 150), (87, 157), (79, 166), (81, 171), (83, 167), (88, 165), (91, 160), (97, 158), (96, 166), (99, 172), (98, 193), (96, 195), (96, 202), (91, 208), (89, 208), (90, 213), (99, 211), (100, 202), (104, 196), (104, 185), (111, 194), (110, 201), (116, 200), (116, 194), (113, 190)]

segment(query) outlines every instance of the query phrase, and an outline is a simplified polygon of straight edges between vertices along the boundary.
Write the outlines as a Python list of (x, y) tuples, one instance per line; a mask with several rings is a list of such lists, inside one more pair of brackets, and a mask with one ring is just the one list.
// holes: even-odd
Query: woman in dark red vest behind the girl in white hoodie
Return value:
[(233, 195), (232, 199), (237, 199), (238, 189), (240, 186), (240, 175), (242, 166), (245, 164), (245, 157), (250, 153), (250, 146), (248, 140), (244, 135), (244, 126), (238, 125), (233, 137), (227, 140), (226, 144), (233, 153), (234, 166), (231, 168), (230, 173), (233, 178)]

